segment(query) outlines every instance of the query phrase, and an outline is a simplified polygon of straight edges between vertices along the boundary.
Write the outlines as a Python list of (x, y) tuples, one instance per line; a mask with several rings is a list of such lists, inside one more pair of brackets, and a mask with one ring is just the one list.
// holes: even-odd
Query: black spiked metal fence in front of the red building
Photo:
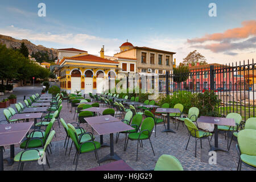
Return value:
[[(218, 111), (222, 115), (239, 113), (243, 120), (255, 117), (256, 72), (252, 63), (208, 64), (189, 68), (187, 73), (166, 73), (159, 75), (158, 96), (179, 90), (191, 93), (203, 93), (214, 90), (221, 105)], [(168, 85), (168, 86), (167, 86)]]

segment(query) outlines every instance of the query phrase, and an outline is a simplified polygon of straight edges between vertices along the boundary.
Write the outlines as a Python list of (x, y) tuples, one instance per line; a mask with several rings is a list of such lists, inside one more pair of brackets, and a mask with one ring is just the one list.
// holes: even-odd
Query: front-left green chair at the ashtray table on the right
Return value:
[[(197, 126), (188, 118), (185, 118), (184, 122), (185, 122), (185, 126), (187, 127), (188, 133), (189, 133), (188, 143), (189, 143), (190, 137), (195, 138), (195, 157), (196, 157), (197, 140), (200, 139), (201, 148), (202, 148), (202, 139), (208, 138), (209, 145), (210, 145), (209, 136), (212, 136), (212, 133), (210, 133), (209, 131), (208, 132), (207, 131), (199, 131)], [(188, 148), (188, 143), (187, 143), (185, 150), (187, 150), (187, 148)]]

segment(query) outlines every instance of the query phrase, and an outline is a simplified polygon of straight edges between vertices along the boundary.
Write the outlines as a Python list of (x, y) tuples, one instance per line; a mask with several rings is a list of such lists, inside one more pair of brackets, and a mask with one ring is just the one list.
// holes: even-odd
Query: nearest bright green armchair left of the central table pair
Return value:
[[(75, 144), (75, 148), (76, 148), (75, 159), (73, 160), (73, 164), (75, 164), (75, 160), (76, 160), (76, 169), (77, 169), (77, 164), (79, 162), (80, 154), (94, 152), (95, 156), (96, 156), (96, 160), (99, 159), (97, 150), (101, 147), (101, 144), (99, 142), (96, 142), (93, 140), (92, 133), (84, 133), (78, 137), (77, 134), (74, 132), (74, 127), (68, 123), (68, 134), (71, 137), (73, 143)], [(81, 142), (81, 138), (83, 135), (90, 135), (91, 140), (86, 141), (86, 142)], [(98, 160), (98, 164), (100, 164), (99, 160)], [(75, 171), (76, 171), (76, 169), (75, 169)]]

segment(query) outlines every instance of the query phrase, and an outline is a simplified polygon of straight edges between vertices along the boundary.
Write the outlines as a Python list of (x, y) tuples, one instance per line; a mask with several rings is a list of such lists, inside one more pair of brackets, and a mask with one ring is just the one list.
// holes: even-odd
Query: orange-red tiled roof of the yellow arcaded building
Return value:
[(100, 62), (100, 63), (113, 63), (118, 64), (118, 61), (112, 61), (109, 59), (104, 59), (102, 57), (94, 56), (94, 55), (82, 55), (82, 56), (74, 56), (74, 57), (65, 57), (63, 60), (60, 61), (60, 64), (63, 63), (65, 59), (69, 60), (78, 60), (78, 61), (93, 61), (93, 62)]

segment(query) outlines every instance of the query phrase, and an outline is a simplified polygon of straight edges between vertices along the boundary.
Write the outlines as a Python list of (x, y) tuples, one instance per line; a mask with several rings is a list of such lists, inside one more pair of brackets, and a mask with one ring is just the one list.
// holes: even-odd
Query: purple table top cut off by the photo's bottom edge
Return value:
[(126, 164), (123, 160), (117, 160), (112, 163), (87, 169), (87, 171), (134, 171), (134, 169)]

